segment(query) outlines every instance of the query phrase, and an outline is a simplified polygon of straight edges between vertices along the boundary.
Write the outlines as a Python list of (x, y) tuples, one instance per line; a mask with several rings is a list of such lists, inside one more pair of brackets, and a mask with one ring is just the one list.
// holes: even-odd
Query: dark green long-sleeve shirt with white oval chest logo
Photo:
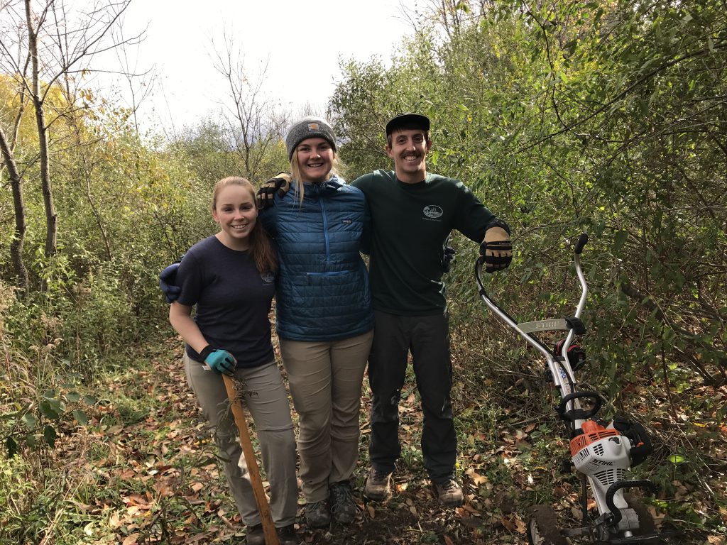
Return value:
[(446, 308), (443, 246), (451, 230), (481, 242), (494, 214), (457, 179), (427, 174), (406, 184), (377, 170), (353, 181), (366, 195), (373, 237), (369, 276), (374, 310), (433, 315)]

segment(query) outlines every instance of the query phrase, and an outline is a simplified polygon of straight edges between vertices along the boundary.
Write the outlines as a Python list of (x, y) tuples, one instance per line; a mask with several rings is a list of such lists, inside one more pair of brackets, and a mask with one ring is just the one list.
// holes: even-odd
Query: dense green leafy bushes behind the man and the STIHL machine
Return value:
[[(381, 166), (385, 120), (426, 113), (430, 170), (464, 180), (514, 224), (515, 267), (493, 289), (516, 316), (573, 306), (564, 241), (587, 232), (588, 342), (611, 394), (634, 367), (723, 382), (723, 5), (459, 3), (457, 12), (468, 17), (449, 20), (449, 40), (425, 27), (388, 68), (342, 67), (330, 109), (345, 162)], [(466, 266), (449, 294), (469, 320), (473, 246), (455, 243)]]

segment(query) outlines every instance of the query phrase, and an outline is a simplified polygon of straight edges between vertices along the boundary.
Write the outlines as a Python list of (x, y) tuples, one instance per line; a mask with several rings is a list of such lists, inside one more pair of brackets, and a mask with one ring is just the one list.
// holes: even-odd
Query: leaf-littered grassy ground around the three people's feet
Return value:
[[(567, 443), (542, 376), (525, 364), (519, 371), (501, 368), (457, 332), (453, 349), (457, 468), (465, 505), (442, 509), (430, 490), (413, 380), (402, 392), (403, 454), (395, 494), (385, 502), (364, 498), (370, 432), (364, 384), (357, 520), (350, 527), (310, 530), (301, 496), (302, 543), (525, 544), (533, 504), (552, 505), (563, 525), (580, 524), (579, 480), (561, 473)], [(244, 542), (244, 525), (180, 357), (180, 342), (171, 335), (140, 347), (97, 381), (95, 396), (87, 397), (94, 403), (84, 406), (87, 426), (68, 421), (59, 427), (55, 448), (24, 447), (0, 461), (0, 492), (7, 502), (0, 515), (1, 544)], [(632, 384), (622, 400), (633, 416), (648, 415), (651, 422), (656, 448), (636, 468), (636, 475), (660, 486), (654, 498), (644, 498), (648, 511), (658, 526), (680, 532), (673, 543), (724, 544), (727, 427), (709, 415), (683, 415), (726, 403), (727, 389), (694, 386), (668, 396), (655, 386)]]

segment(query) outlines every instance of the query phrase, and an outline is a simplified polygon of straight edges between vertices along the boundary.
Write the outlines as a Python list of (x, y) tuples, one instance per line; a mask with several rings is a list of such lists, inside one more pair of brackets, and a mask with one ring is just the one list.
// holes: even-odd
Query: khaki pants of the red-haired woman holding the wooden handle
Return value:
[[(184, 356), (187, 380), (202, 408), (220, 449), (225, 475), (238, 511), (246, 525), (260, 524), (238, 431), (230, 412), (222, 376)], [(290, 405), (276, 363), (235, 371), (245, 384), (244, 398), (255, 423), (262, 466), (270, 482), (270, 514), (276, 527), (295, 522), (298, 487), (295, 476), (295, 436)]]

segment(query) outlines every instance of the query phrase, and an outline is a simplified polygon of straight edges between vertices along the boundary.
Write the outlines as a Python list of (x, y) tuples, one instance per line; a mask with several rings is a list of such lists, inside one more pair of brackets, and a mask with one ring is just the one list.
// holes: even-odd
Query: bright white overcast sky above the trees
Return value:
[[(128, 55), (135, 57), (135, 71), (155, 74), (153, 91), (140, 108), (140, 126), (179, 131), (230, 103), (226, 81), (213, 66), (215, 44), (224, 50), (224, 33), (233, 36), (253, 77), (268, 63), (269, 97), (280, 100), (294, 117), (307, 104), (322, 114), (334, 82), (341, 79), (340, 59), (377, 56), (390, 61), (401, 39), (413, 33), (403, 10), (411, 14), (416, 4), (417, 0), (132, 0), (124, 13), (124, 34), (145, 30), (145, 39), (137, 53), (129, 49)], [(118, 62), (110, 56), (101, 61)], [(100, 81), (111, 96), (128, 97), (126, 84), (119, 85), (122, 80), (107, 76)], [(139, 85), (140, 81), (137, 91)], [(112, 87), (116, 90), (110, 91)]]

